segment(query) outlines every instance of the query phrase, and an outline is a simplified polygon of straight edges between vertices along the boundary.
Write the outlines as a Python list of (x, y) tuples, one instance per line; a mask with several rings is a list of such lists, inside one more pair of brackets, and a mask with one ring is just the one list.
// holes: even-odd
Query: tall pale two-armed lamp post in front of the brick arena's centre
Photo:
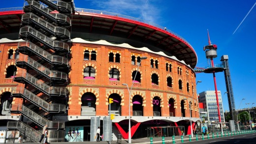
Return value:
[(128, 125), (128, 143), (129, 143), (129, 144), (131, 144), (131, 132), (130, 132), (130, 93), (131, 93), (131, 89), (132, 89), (132, 86), (133, 86), (133, 84), (134, 84), (135, 78), (136, 78), (136, 76), (137, 76), (140, 63), (141, 63), (141, 61), (142, 61), (143, 59), (147, 59), (147, 57), (141, 57), (141, 58), (140, 58), (140, 62), (139, 62), (139, 65), (138, 65), (138, 68), (137, 68), (137, 71), (136, 71), (136, 73), (135, 73), (135, 76), (134, 76), (134, 79), (133, 79), (133, 81), (132, 81), (132, 84), (131, 84), (130, 89), (129, 89), (129, 87), (128, 87), (128, 84), (122, 84), (123, 86), (127, 86), (128, 92), (129, 92), (129, 125)]

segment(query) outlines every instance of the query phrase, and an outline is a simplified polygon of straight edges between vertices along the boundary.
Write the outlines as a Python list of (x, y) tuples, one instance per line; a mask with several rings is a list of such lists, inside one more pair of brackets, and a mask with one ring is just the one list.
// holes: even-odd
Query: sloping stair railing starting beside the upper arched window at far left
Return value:
[(41, 89), (44, 93), (47, 93), (49, 95), (54, 94), (54, 95), (59, 95), (59, 96), (66, 96), (67, 94), (67, 89), (66, 87), (52, 87), (48, 86), (45, 83), (41, 82), (40, 80), (36, 79), (26, 71), (19, 71), (15, 72), (14, 80), (18, 78), (23, 78), (26, 82), (32, 84), (33, 86)]

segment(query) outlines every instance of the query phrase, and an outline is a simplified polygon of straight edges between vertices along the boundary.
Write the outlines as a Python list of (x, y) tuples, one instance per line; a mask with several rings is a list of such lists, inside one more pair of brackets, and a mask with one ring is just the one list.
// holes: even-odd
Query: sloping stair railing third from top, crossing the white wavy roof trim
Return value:
[(26, 36), (27, 38), (27, 34), (31, 34), (34, 38), (36, 38), (38, 41), (42, 42), (43, 44), (49, 46), (50, 48), (56, 50), (57, 48), (58, 49), (61, 49), (61, 50), (64, 50), (66, 52), (69, 51), (69, 46), (67, 43), (64, 43), (64, 42), (60, 42), (60, 41), (54, 41), (53, 39), (51, 39), (50, 37), (42, 34), (41, 32), (33, 29), (32, 27), (30, 26), (25, 26), (25, 27), (22, 27), (20, 29), (20, 34), (25, 34), (24, 36)]

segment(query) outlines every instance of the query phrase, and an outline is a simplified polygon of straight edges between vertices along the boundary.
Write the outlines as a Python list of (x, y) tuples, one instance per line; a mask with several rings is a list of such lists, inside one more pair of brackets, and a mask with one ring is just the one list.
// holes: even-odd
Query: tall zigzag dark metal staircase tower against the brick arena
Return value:
[[(18, 50), (24, 55), (16, 58), (16, 66), (21, 69), (13, 80), (23, 83), (24, 87), (13, 88), (12, 96), (27, 101), (11, 105), (10, 112), (27, 117), (32, 125), (43, 127), (47, 124), (53, 135), (48, 138), (50, 142), (64, 142), (64, 121), (53, 118), (66, 115), (67, 104), (55, 102), (69, 94), (66, 87), (69, 45), (65, 42), (70, 39), (69, 16), (73, 9), (73, 0), (25, 0), (25, 14), (21, 19), (23, 27), (19, 34), (25, 42), (19, 42)], [(45, 95), (47, 101), (42, 97)], [(21, 131), (31, 142), (38, 142), (41, 135), (19, 121), (9, 121), (7, 128)]]

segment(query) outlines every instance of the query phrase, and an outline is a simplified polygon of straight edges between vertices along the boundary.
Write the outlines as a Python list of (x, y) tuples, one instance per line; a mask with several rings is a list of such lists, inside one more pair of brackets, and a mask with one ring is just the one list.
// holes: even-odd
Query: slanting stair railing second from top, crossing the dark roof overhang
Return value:
[(64, 35), (67, 38), (70, 38), (70, 32), (67, 29), (64, 29), (62, 27), (56, 27), (33, 13), (25, 13), (22, 15), (21, 19), (22, 21), (25, 21), (25, 22), (26, 21), (33, 22), (39, 25), (40, 27), (43, 27), (45, 30), (47, 30), (48, 32), (52, 33), (55, 36), (58, 36), (58, 34), (56, 33), (59, 33)]

